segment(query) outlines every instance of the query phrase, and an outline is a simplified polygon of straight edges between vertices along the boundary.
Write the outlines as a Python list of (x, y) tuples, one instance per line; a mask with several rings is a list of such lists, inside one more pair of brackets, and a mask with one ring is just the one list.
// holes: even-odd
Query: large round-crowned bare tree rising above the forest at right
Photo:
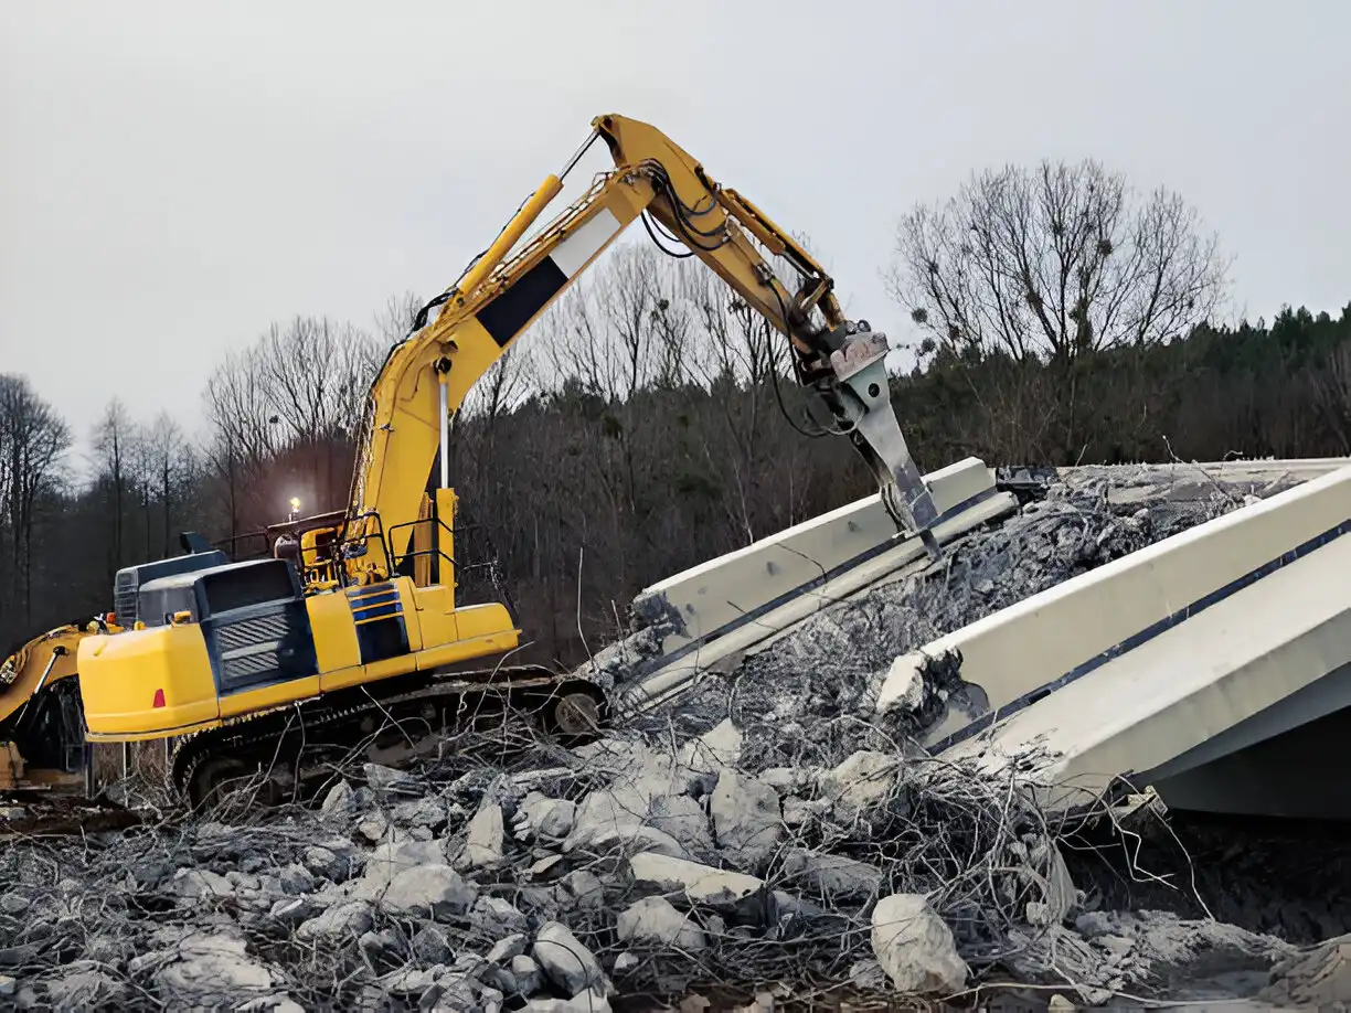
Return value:
[(892, 297), (943, 347), (1069, 362), (1186, 335), (1215, 311), (1228, 261), (1166, 189), (1133, 200), (1093, 161), (975, 174), (896, 234)]

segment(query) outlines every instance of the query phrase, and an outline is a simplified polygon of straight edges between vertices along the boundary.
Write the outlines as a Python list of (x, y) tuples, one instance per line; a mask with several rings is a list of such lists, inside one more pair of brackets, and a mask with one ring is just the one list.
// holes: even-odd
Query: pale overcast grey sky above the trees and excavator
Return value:
[(439, 290), (601, 112), (811, 235), (897, 335), (897, 216), (1047, 155), (1182, 192), (1251, 319), (1336, 312), (1348, 28), (1346, 0), (3, 0), (0, 371), (81, 438), (115, 393), (195, 428), (227, 348)]

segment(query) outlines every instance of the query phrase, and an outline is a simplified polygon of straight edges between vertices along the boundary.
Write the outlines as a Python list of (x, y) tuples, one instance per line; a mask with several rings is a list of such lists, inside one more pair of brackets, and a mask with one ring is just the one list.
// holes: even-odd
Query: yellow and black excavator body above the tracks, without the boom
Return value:
[(457, 611), (453, 588), (417, 588), (409, 577), (305, 596), (281, 559), (142, 583), (138, 615), (139, 624), (158, 624), (80, 643), (91, 740), (199, 732), (332, 690), (501, 654), (520, 636), (501, 605)]

